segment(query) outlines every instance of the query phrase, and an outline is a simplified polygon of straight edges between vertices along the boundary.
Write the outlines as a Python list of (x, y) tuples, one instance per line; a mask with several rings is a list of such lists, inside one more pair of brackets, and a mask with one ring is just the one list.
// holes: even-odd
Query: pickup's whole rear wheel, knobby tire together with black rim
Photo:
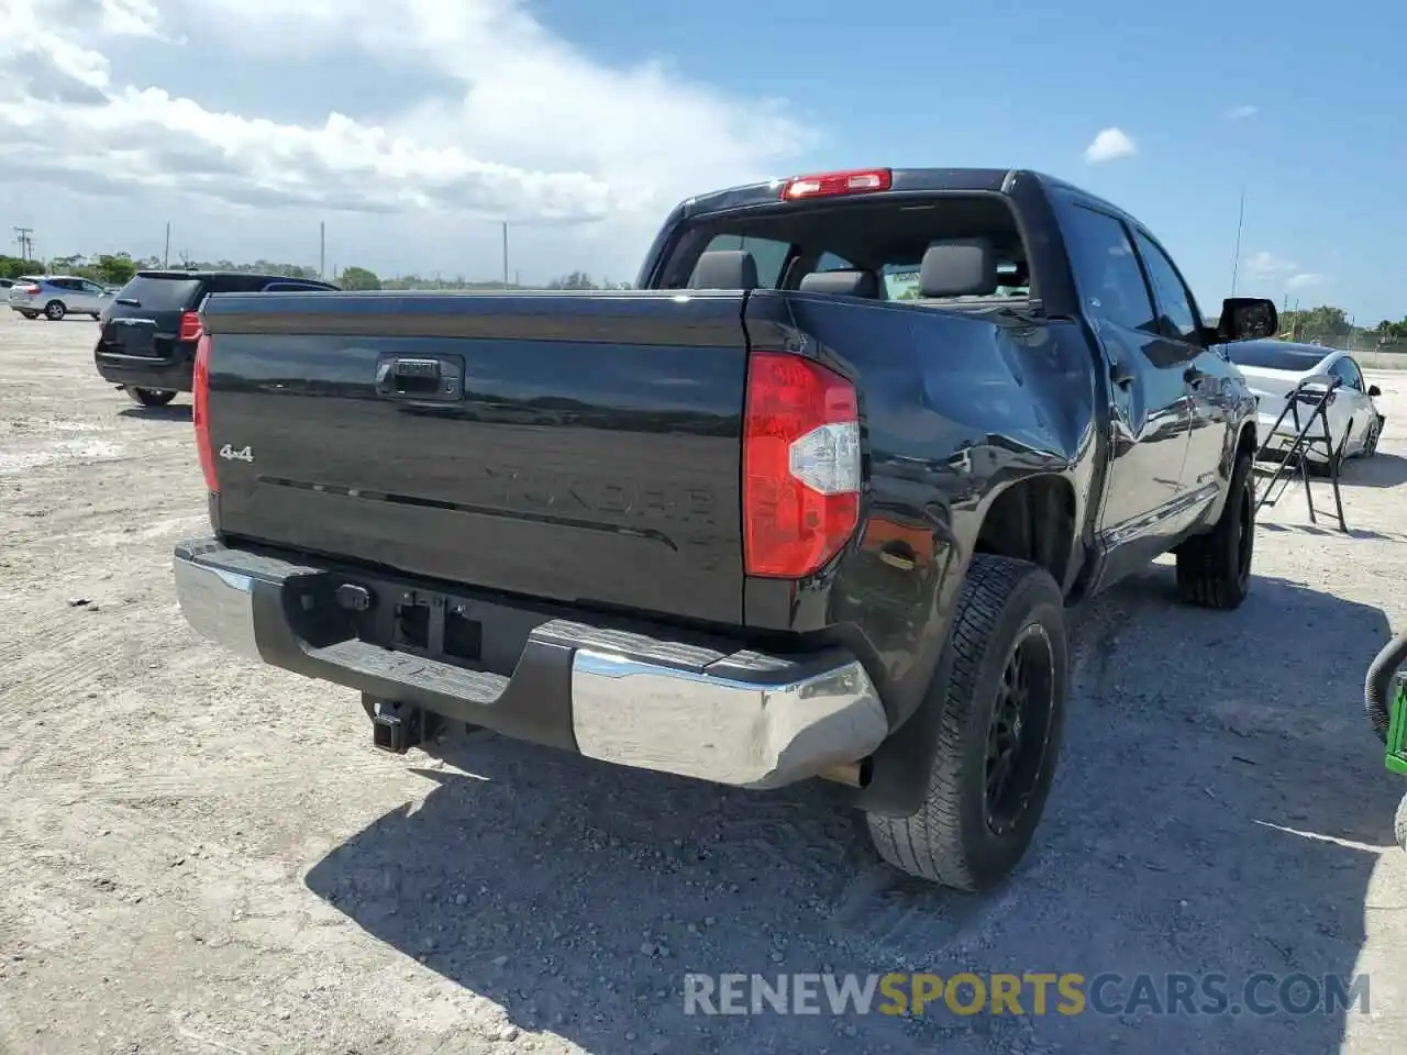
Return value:
[(870, 814), (870, 836), (895, 868), (975, 892), (1020, 864), (1055, 775), (1069, 679), (1055, 580), (978, 554), (948, 650), (947, 684), (934, 679), (923, 703), (941, 708), (924, 802), (908, 817)]

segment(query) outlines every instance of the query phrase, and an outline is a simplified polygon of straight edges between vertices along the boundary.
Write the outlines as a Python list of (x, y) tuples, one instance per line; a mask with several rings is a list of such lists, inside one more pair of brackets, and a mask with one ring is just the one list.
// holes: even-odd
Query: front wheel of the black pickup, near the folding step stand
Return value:
[(1251, 456), (1238, 454), (1227, 502), (1216, 528), (1178, 547), (1178, 595), (1197, 608), (1240, 608), (1251, 589), (1255, 558), (1255, 474)]

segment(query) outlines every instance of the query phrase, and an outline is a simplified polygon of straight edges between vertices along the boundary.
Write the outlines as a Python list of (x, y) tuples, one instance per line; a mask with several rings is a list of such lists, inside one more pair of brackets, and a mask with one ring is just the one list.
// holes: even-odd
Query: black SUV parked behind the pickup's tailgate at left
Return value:
[(248, 271), (138, 271), (98, 318), (93, 362), (142, 407), (189, 392), (200, 340), (200, 304), (211, 293), (308, 293), (338, 287), (315, 279)]

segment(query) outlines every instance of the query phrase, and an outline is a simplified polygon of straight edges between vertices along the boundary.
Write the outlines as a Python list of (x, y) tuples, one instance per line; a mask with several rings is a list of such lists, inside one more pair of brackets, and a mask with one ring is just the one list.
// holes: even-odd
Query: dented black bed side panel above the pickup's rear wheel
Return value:
[[(888, 346), (843, 347), (865, 392), (871, 501), (829, 615), (862, 634), (895, 724), (927, 691), (992, 504), (1034, 475), (1069, 481), (1079, 550), (1089, 539), (1097, 452), (1096, 377), (1078, 328), (924, 314), (944, 319), (934, 326), (941, 333), (923, 339), (915, 321)], [(834, 332), (817, 318), (799, 321), (809, 332)], [(913, 568), (886, 563), (895, 542), (920, 557)], [(1074, 553), (1072, 574), (1079, 564)]]

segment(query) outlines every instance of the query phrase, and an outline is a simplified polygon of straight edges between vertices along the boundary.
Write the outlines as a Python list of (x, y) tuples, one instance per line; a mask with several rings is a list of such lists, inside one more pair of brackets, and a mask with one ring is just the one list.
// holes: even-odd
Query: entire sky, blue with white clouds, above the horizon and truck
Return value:
[(1393, 4), (1078, 0), (1000, 39), (941, 7), (0, 0), (0, 234), (146, 255), (169, 221), (173, 257), (315, 264), (325, 221), (329, 269), (494, 277), (507, 219), (523, 280), (629, 280), (692, 193), (1010, 165), (1128, 208), (1204, 301), (1244, 186), (1241, 293), (1407, 314)]

